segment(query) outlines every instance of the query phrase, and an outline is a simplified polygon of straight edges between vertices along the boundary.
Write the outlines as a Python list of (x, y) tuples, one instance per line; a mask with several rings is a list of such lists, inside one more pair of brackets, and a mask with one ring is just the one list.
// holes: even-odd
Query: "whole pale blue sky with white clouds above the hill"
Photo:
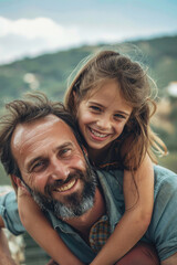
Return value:
[(0, 64), (83, 44), (176, 34), (176, 0), (0, 0)]

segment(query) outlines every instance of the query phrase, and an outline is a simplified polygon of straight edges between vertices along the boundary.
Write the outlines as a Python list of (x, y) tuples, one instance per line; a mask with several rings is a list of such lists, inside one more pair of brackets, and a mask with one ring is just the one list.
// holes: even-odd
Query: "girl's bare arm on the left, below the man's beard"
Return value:
[(23, 188), (18, 188), (18, 206), (23, 226), (55, 262), (60, 265), (83, 265), (63, 243), (32, 197), (27, 194)]

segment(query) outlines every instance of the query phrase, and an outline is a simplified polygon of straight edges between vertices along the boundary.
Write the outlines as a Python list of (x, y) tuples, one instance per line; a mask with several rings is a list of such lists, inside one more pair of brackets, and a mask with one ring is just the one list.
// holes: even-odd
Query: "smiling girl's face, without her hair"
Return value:
[(83, 99), (77, 108), (77, 121), (88, 150), (105, 150), (122, 134), (132, 110), (116, 81), (105, 82)]

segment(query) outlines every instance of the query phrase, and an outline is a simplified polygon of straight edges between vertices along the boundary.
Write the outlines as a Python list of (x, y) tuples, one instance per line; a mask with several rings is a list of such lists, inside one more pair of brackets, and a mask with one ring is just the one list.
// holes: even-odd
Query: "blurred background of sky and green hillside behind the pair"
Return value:
[[(62, 100), (73, 68), (103, 45), (128, 46), (148, 66), (159, 88), (153, 127), (169, 150), (159, 163), (177, 172), (176, 0), (0, 0), (0, 113), (28, 91)], [(44, 264), (30, 251), (20, 264)]]

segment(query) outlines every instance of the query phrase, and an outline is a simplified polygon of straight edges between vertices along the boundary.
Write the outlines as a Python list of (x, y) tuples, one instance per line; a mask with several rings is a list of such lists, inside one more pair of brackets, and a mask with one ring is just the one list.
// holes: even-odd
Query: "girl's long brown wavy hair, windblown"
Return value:
[[(66, 109), (76, 118), (76, 106), (108, 80), (117, 81), (123, 97), (133, 107), (124, 131), (118, 137), (121, 165), (124, 169), (135, 170), (146, 152), (157, 162), (157, 155), (165, 155), (167, 149), (149, 124), (156, 112), (156, 85), (147, 75), (147, 70), (128, 56), (115, 51), (101, 51), (88, 57), (65, 93)], [(76, 102), (74, 94), (77, 95)]]

